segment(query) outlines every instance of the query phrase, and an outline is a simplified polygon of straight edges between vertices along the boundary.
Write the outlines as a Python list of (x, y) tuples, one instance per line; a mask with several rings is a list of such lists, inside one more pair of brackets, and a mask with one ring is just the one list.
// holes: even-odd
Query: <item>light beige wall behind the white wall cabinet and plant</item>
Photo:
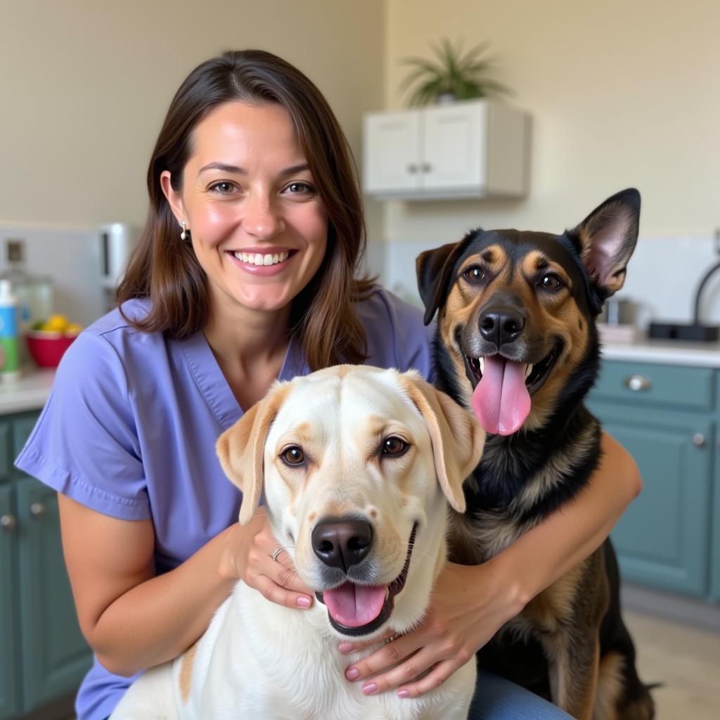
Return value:
[(386, 240), (468, 228), (560, 231), (637, 186), (643, 233), (720, 225), (720, 3), (715, 0), (387, 0), (387, 107), (431, 40), (488, 38), (497, 76), (534, 119), (531, 193), (518, 202), (391, 203)]

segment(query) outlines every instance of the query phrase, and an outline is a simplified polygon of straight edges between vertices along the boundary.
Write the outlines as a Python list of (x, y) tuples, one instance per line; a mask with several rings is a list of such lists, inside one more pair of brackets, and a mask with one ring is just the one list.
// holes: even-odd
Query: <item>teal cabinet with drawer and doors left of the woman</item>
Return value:
[[(0, 447), (14, 457), (36, 417), (4, 418), (9, 431), (0, 433)], [(55, 492), (11, 464), (0, 480), (0, 518), (1, 572), (8, 580), (0, 583), (0, 720), (9, 720), (72, 693), (92, 654), (65, 570)]]

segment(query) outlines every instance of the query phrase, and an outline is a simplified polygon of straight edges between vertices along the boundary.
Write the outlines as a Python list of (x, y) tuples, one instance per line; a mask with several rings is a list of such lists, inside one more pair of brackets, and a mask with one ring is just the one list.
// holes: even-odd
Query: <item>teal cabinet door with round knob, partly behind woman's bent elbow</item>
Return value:
[(23, 709), (72, 692), (91, 665), (60, 543), (55, 491), (17, 480)]

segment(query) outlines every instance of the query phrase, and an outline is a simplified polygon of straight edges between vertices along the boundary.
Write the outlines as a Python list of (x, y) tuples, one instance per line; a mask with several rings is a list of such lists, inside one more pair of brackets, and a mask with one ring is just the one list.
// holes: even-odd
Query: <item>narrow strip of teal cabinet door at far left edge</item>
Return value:
[(0, 485), (0, 719), (19, 713), (19, 637), (17, 636), (17, 521), (14, 487)]

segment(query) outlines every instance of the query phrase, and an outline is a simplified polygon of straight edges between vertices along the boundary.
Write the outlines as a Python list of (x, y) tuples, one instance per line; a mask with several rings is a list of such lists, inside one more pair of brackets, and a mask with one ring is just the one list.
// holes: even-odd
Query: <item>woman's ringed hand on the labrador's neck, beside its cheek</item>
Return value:
[(287, 608), (312, 605), (312, 591), (297, 577), (290, 554), (286, 550), (276, 553), (281, 545), (271, 532), (264, 507), (258, 508), (248, 525), (236, 524), (232, 530), (220, 564), (223, 576), (242, 580)]

